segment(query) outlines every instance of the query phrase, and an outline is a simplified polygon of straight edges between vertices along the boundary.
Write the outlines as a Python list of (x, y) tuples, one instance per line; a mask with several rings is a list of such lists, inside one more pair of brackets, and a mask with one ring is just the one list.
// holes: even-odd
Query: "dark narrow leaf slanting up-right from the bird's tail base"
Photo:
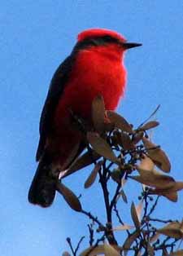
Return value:
[(76, 158), (76, 161), (72, 163), (72, 166), (69, 167), (67, 173), (63, 177), (67, 177), (68, 175), (76, 172), (77, 170), (81, 170), (85, 166), (91, 165), (100, 157), (101, 156), (93, 150), (91, 152), (85, 152), (85, 154), (83, 154), (81, 157)]

